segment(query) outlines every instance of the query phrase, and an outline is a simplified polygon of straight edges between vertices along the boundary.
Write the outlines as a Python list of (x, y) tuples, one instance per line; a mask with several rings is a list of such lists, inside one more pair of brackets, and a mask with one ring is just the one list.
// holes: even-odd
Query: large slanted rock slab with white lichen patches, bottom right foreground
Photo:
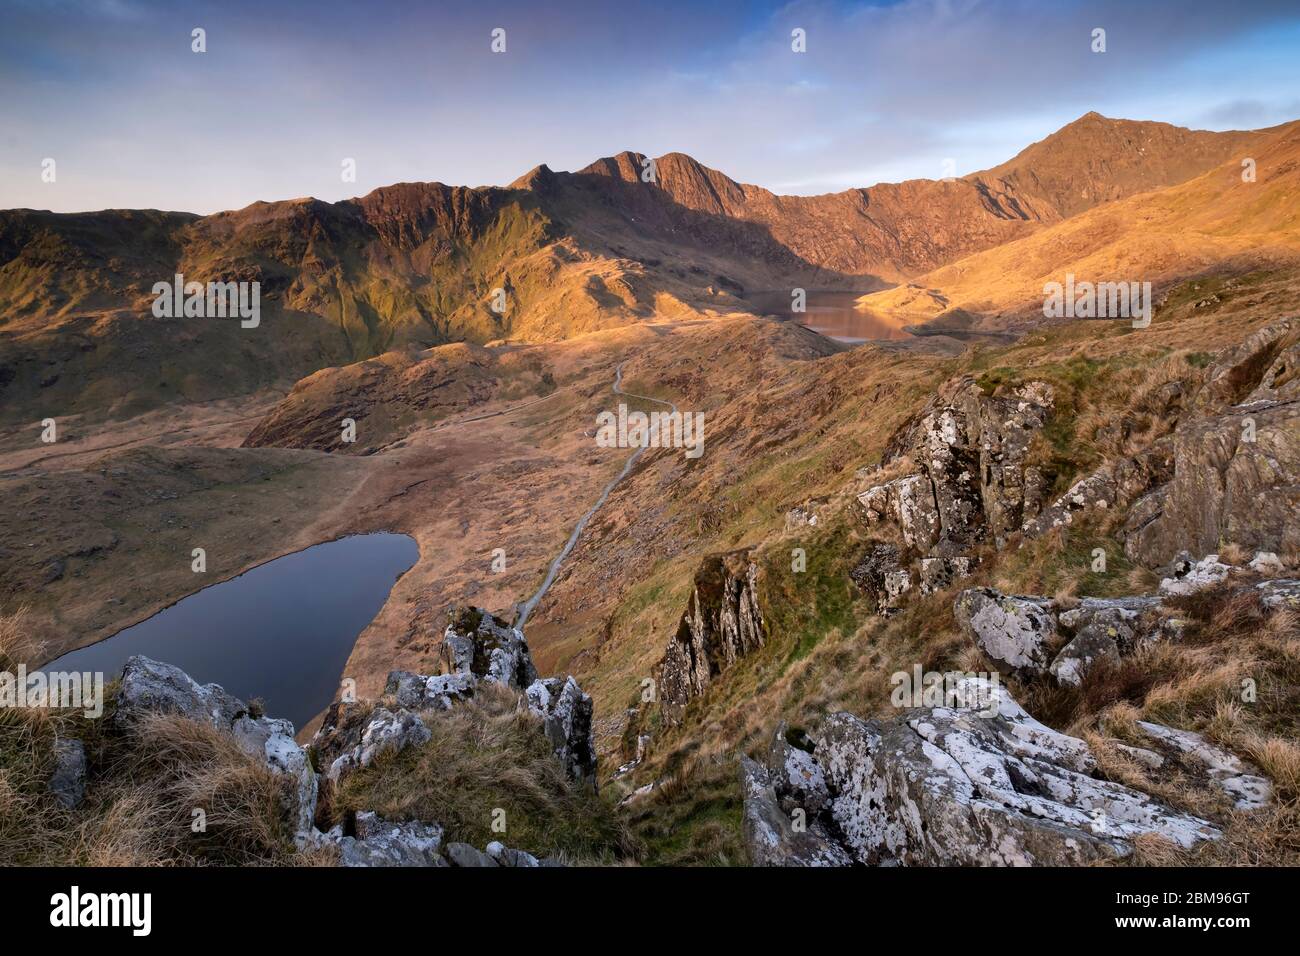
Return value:
[[(967, 678), (980, 708), (920, 708), (889, 721), (832, 714), (801, 793), (789, 773), (742, 761), (754, 862), (776, 865), (1079, 865), (1122, 857), (1143, 834), (1180, 847), (1216, 839), (1204, 819), (1098, 779), (1088, 744), (1043, 726), (991, 682)], [(802, 761), (801, 761), (802, 763)], [(824, 780), (824, 791), (822, 790)], [(790, 804), (802, 809), (793, 827)], [(783, 804), (783, 800), (785, 801)], [(798, 839), (797, 839), (798, 838)]]

